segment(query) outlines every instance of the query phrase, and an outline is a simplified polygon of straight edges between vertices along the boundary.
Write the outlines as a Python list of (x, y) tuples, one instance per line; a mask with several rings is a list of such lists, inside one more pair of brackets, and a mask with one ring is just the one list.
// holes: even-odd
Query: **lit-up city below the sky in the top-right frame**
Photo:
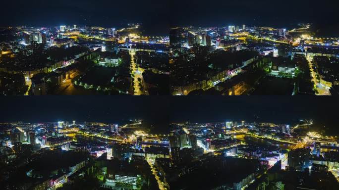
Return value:
[(338, 95), (339, 38), (314, 27), (172, 27), (170, 93)]

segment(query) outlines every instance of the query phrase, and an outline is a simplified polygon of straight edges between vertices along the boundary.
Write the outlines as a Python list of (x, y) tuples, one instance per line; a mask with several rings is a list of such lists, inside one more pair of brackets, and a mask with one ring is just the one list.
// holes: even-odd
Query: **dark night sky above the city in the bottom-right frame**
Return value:
[[(171, 120), (288, 123), (305, 118), (336, 120), (339, 99), (320, 96), (187, 96), (172, 98)], [(176, 107), (177, 109), (175, 109)]]

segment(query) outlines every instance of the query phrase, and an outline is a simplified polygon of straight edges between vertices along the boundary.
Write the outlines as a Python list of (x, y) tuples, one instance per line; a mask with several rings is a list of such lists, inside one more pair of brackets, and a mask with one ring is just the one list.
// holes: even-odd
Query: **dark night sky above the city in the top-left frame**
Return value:
[(168, 34), (168, 0), (5, 0), (0, 26), (123, 27), (141, 22), (146, 34)]

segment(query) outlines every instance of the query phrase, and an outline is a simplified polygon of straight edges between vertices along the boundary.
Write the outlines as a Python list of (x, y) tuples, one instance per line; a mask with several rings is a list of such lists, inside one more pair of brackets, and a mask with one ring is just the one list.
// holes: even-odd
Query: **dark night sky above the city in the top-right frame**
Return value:
[[(171, 0), (171, 26), (273, 26), (311, 22), (339, 36), (338, 0)], [(335, 27), (335, 28), (334, 28)]]

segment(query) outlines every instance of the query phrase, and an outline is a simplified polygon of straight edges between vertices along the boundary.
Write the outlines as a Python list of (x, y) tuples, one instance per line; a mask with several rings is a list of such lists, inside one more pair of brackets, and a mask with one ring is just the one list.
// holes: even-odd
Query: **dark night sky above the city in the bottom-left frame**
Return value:
[(142, 118), (168, 123), (169, 101), (162, 96), (9, 96), (0, 97), (0, 101), (0, 121), (117, 122)]

